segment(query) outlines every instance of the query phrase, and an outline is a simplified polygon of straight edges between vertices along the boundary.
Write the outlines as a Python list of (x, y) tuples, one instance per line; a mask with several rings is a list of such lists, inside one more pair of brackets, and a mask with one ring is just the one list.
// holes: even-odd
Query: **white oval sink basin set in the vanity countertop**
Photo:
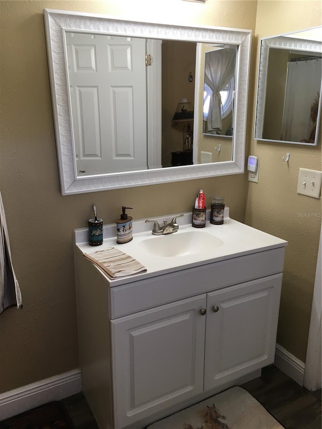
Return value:
[(166, 235), (154, 235), (139, 242), (148, 253), (155, 256), (186, 256), (206, 253), (210, 249), (223, 245), (220, 238), (204, 231), (174, 232)]

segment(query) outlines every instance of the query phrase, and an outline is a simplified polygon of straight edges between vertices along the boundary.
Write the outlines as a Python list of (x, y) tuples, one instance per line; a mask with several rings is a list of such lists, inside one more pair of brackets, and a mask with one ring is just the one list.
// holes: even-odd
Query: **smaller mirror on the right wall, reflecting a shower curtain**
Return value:
[(254, 138), (316, 146), (322, 27), (261, 39)]

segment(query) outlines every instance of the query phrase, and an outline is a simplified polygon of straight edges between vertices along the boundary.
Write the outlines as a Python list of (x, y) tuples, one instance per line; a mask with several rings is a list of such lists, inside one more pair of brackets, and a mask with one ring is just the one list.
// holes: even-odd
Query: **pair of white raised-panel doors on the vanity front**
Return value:
[(111, 321), (115, 427), (274, 362), (282, 276)]

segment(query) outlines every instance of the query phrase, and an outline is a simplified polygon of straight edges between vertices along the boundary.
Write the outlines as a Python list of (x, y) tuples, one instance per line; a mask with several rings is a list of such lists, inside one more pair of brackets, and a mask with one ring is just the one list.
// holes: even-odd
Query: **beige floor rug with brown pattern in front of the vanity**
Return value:
[(250, 393), (237, 386), (156, 421), (147, 429), (282, 428)]

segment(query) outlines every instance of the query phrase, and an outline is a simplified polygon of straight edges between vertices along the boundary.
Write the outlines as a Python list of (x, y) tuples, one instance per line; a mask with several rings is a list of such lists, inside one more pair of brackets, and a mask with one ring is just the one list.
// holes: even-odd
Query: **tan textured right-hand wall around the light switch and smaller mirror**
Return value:
[[(319, 1), (260, 0), (255, 40), (320, 24)], [(286, 152), (288, 164), (282, 161)], [(246, 223), (289, 242), (277, 342), (305, 362), (322, 209), (321, 200), (296, 190), (300, 167), (322, 169), (321, 138), (317, 147), (252, 140), (249, 153), (259, 157), (260, 171), (259, 183), (248, 184)]]

